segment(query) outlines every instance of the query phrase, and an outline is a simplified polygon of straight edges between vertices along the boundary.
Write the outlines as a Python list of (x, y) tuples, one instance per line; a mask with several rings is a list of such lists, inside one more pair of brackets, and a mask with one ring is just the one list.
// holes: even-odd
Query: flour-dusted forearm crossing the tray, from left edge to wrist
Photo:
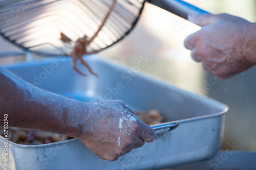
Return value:
[[(8, 114), (9, 126), (37, 129), (77, 137), (79, 131), (76, 108), (88, 104), (64, 98), (32, 86), (9, 71), (0, 68), (1, 126), (4, 114)], [(85, 116), (86, 114), (84, 114)]]

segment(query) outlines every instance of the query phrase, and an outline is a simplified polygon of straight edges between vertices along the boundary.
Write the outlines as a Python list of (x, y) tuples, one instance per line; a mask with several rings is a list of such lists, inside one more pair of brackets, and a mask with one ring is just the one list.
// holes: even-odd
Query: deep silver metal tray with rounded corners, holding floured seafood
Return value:
[[(0, 161), (1, 169), (157, 169), (205, 160), (217, 154), (224, 114), (228, 111), (226, 105), (137, 73), (139, 64), (131, 68), (98, 56), (85, 59), (99, 78), (79, 76), (73, 71), (71, 60), (65, 58), (5, 68), (35, 86), (83, 102), (118, 99), (134, 110), (157, 109), (165, 117), (165, 124), (179, 124), (178, 128), (156, 131), (153, 143), (145, 143), (115, 162), (96, 157), (77, 139), (42, 145), (9, 141), (9, 166)], [(4, 138), (0, 140), (3, 158)]]

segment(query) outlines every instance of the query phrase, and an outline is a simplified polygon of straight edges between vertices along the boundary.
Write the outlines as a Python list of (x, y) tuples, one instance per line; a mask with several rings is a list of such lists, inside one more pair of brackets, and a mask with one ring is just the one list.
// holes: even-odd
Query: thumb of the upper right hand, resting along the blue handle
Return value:
[(214, 14), (195, 14), (188, 15), (188, 20), (200, 27), (204, 27), (218, 20), (218, 17)]

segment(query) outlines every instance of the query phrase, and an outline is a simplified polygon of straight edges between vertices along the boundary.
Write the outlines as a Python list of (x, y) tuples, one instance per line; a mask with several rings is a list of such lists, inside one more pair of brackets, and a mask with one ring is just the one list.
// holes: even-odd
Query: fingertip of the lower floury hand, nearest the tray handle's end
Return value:
[(155, 131), (150, 126), (141, 122), (139, 138), (145, 142), (151, 143), (155, 139)]

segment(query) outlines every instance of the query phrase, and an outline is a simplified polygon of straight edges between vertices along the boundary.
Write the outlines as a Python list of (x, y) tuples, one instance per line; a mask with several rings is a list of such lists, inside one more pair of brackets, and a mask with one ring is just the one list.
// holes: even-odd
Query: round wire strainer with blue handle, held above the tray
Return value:
[[(0, 34), (14, 44), (40, 55), (69, 55), (74, 42), (92, 37), (112, 0), (3, 0), (0, 1)], [(118, 0), (104, 27), (87, 46), (88, 52), (107, 48), (136, 25), (145, 2), (187, 19), (189, 14), (208, 13), (181, 0)], [(60, 40), (60, 34), (72, 42)]]

